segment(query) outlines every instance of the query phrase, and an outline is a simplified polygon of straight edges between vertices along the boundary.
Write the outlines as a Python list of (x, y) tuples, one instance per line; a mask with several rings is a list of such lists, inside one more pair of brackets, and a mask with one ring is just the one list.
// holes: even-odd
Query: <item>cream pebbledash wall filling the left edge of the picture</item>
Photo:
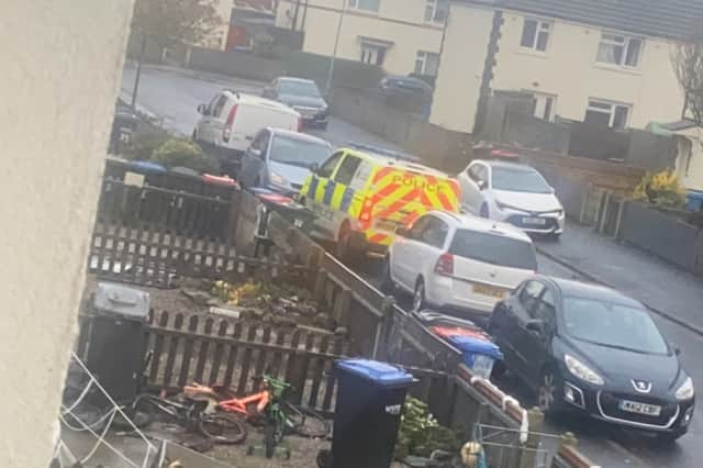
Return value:
[(5, 467), (45, 467), (54, 448), (132, 7), (129, 0), (2, 2)]

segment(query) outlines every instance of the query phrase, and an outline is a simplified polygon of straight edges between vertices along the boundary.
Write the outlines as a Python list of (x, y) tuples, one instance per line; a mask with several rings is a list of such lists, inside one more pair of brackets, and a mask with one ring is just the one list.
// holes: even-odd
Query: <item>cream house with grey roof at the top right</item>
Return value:
[(533, 94), (546, 120), (676, 121), (671, 52), (701, 19), (703, 0), (453, 0), (431, 121), (473, 132), (498, 90)]

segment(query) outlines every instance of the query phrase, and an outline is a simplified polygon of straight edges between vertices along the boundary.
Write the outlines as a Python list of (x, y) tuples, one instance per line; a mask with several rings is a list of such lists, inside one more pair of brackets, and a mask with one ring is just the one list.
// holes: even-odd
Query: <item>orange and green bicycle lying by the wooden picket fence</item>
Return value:
[(264, 416), (267, 456), (272, 454), (286, 434), (321, 438), (330, 433), (330, 425), (321, 414), (287, 401), (292, 390), (290, 383), (266, 375), (260, 379), (264, 380), (264, 390), (243, 398), (232, 398), (222, 388), (212, 389), (198, 383), (187, 386), (183, 392), (214, 398), (217, 400), (217, 410), (237, 414), (252, 423)]

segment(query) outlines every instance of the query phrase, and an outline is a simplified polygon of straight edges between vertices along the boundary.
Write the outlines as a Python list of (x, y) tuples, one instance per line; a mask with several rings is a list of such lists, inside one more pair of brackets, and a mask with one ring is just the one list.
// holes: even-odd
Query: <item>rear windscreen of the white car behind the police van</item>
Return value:
[(449, 253), (484, 264), (524, 270), (537, 270), (537, 257), (531, 243), (500, 234), (459, 230)]

